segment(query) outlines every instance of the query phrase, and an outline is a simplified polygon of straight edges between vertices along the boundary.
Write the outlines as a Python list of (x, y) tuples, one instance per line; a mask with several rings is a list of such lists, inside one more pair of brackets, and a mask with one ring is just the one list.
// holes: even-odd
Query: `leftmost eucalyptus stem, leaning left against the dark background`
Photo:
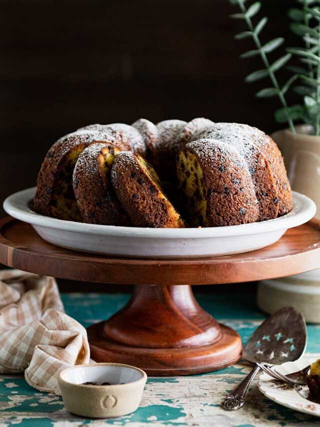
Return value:
[(265, 70), (258, 70), (254, 73), (251, 73), (246, 77), (246, 82), (253, 82), (259, 79), (262, 79), (266, 76), (268, 76), (272, 82), (273, 88), (266, 88), (262, 89), (261, 91), (257, 92), (256, 96), (260, 98), (264, 97), (271, 97), (271, 96), (277, 96), (282, 104), (282, 113), (284, 113), (286, 117), (286, 121), (289, 125), (289, 128), (291, 132), (295, 133), (293, 121), (292, 121), (292, 112), (290, 111), (290, 107), (288, 107), (284, 94), (288, 90), (289, 86), (291, 85), (293, 79), (289, 79), (289, 81), (284, 85), (284, 87), (281, 89), (277, 79), (275, 77), (275, 72), (279, 70), (281, 67), (283, 67), (287, 61), (290, 59), (291, 54), (286, 54), (285, 56), (279, 58), (276, 60), (273, 64), (270, 64), (266, 54), (269, 52), (272, 52), (276, 48), (278, 48), (283, 42), (284, 39), (277, 38), (274, 40), (271, 40), (270, 42), (266, 43), (264, 46), (262, 46), (260, 39), (259, 39), (259, 33), (265, 26), (267, 19), (262, 18), (257, 26), (254, 28), (251, 18), (258, 13), (260, 10), (261, 4), (259, 2), (253, 3), (248, 9), (244, 6), (245, 0), (230, 0), (232, 4), (238, 5), (240, 8), (241, 14), (235, 14), (232, 15), (231, 18), (235, 19), (243, 19), (246, 22), (246, 25), (249, 29), (249, 31), (243, 32), (235, 36), (236, 39), (244, 39), (246, 37), (251, 37), (255, 46), (256, 50), (248, 51), (241, 55), (241, 58), (249, 58), (255, 55), (259, 55), (262, 59), (262, 62), (265, 66)]

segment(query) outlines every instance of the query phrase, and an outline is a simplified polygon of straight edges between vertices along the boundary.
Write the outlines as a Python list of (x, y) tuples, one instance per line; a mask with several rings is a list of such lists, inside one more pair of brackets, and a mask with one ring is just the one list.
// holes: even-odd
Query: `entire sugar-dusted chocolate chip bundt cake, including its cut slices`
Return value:
[(41, 166), (34, 209), (94, 224), (172, 228), (185, 226), (179, 211), (191, 226), (214, 227), (284, 215), (292, 195), (279, 149), (256, 128), (138, 119), (88, 125), (58, 140)]

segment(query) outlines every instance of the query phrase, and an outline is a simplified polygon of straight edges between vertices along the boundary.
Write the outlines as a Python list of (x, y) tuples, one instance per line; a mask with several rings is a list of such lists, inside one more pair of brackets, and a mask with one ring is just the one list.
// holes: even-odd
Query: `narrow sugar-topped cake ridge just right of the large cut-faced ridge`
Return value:
[(270, 163), (255, 144), (255, 128), (237, 123), (215, 123), (203, 133), (203, 138), (213, 138), (233, 147), (243, 157), (255, 188), (259, 204), (258, 221), (276, 218), (279, 210), (278, 191)]

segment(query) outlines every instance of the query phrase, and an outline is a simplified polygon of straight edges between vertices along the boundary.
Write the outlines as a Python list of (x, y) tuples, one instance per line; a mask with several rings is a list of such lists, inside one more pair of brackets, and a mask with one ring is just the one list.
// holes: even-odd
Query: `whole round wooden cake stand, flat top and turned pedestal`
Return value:
[(191, 374), (235, 363), (242, 347), (233, 329), (200, 308), (190, 285), (270, 279), (318, 268), (320, 222), (292, 228), (277, 243), (254, 252), (151, 260), (62, 249), (43, 241), (30, 225), (7, 217), (0, 221), (0, 262), (63, 279), (135, 284), (124, 308), (87, 329), (91, 357), (132, 364), (151, 375)]

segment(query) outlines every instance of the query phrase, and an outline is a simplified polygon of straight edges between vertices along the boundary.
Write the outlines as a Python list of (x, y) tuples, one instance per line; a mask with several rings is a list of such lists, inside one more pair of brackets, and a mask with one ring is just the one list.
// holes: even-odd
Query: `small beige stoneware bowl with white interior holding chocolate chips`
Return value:
[[(122, 363), (90, 363), (63, 369), (58, 383), (65, 408), (92, 418), (126, 415), (141, 401), (146, 373)], [(97, 385), (83, 385), (95, 382)], [(98, 385), (109, 382), (110, 385)]]

